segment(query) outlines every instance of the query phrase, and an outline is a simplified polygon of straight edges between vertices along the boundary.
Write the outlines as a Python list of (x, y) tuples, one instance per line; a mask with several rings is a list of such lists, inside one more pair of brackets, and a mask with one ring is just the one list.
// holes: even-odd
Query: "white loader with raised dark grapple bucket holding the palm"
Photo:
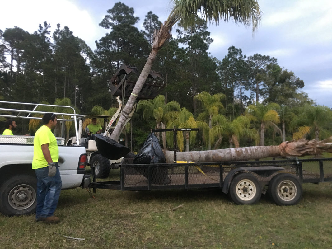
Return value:
[[(83, 130), (84, 119), (104, 119), (106, 128), (102, 131), (101, 134), (110, 137), (111, 130), (115, 128), (115, 126), (112, 126), (112, 124), (115, 124), (117, 118), (121, 116), (121, 111), (124, 108), (124, 100), (129, 98), (136, 84), (137, 79), (134, 79), (134, 77), (136, 77), (135, 75), (137, 77), (139, 76), (139, 72), (136, 67), (126, 66), (123, 64), (110, 79), (109, 83), (111, 95), (118, 96), (117, 101), (119, 103), (119, 108), (109, 121), (109, 117), (103, 115), (83, 115), (83, 117), (79, 119), (79, 144), (85, 147), (90, 165), (96, 167), (95, 170), (97, 178), (107, 178), (111, 169), (119, 168), (119, 163), (122, 161), (123, 157), (118, 160), (109, 160), (102, 156), (97, 149), (96, 141), (91, 139), (89, 131), (87, 129)], [(164, 89), (165, 86), (166, 84), (162, 73), (151, 70), (147, 81), (144, 83), (144, 86), (137, 97), (137, 100), (154, 99)], [(129, 122), (132, 115), (134, 114), (136, 104), (137, 103), (135, 103), (125, 124)], [(70, 137), (66, 142), (66, 145), (77, 145), (76, 137)]]

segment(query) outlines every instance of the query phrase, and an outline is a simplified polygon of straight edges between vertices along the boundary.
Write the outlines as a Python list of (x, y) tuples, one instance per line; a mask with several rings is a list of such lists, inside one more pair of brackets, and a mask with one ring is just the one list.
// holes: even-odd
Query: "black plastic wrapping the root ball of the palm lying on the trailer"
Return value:
[[(159, 164), (166, 163), (164, 152), (159, 144), (159, 139), (151, 133), (143, 143), (143, 147), (139, 150), (134, 158), (134, 164)], [(147, 167), (135, 167), (135, 170), (148, 178)], [(167, 166), (151, 167), (151, 183), (152, 184), (169, 184), (170, 179), (167, 176)]]

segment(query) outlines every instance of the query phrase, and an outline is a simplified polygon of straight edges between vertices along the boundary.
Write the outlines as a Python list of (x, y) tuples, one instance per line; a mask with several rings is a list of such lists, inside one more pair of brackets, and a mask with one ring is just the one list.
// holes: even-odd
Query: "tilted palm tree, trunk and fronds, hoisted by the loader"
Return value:
[[(202, 18), (209, 23), (215, 24), (219, 24), (220, 21), (228, 22), (233, 20), (237, 24), (243, 24), (247, 27), (252, 26), (252, 31), (254, 32), (260, 24), (261, 12), (257, 0), (173, 0), (173, 9), (170, 15), (160, 26), (160, 29), (154, 32), (150, 55), (124, 107), (124, 113), (131, 112), (158, 51), (162, 48), (165, 41), (172, 37), (172, 27), (179, 21), (180, 25), (187, 29), (195, 23), (197, 18)], [(126, 119), (125, 115), (120, 117), (111, 135), (112, 139), (118, 141)]]

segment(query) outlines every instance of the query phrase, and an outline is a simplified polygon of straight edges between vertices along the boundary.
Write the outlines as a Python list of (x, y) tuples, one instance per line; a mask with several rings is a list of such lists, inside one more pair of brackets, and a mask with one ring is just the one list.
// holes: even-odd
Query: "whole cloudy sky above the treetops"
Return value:
[[(0, 29), (18, 26), (30, 33), (39, 23), (47, 21), (51, 31), (60, 23), (68, 26), (95, 49), (95, 42), (107, 30), (98, 26), (106, 11), (117, 1), (106, 0), (14, 0), (1, 3)], [(166, 20), (170, 3), (162, 0), (123, 0), (133, 7), (140, 18), (137, 27), (142, 28), (144, 16), (152, 11), (160, 21)], [(278, 59), (280, 66), (300, 77), (303, 91), (319, 105), (332, 107), (332, 1), (330, 0), (258, 0), (262, 24), (252, 36), (251, 29), (233, 23), (210, 25), (213, 43), (209, 51), (221, 60), (227, 48), (242, 48), (243, 54), (260, 53)], [(13, 4), (15, 6), (13, 6)], [(12, 11), (9, 11), (12, 10)]]

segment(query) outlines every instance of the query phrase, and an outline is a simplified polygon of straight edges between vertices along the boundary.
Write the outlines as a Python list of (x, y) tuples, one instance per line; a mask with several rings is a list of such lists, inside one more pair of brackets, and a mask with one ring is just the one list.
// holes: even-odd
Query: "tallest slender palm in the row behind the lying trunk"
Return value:
[[(208, 126), (211, 129), (213, 116), (218, 115), (220, 109), (224, 109), (224, 106), (221, 104), (221, 100), (224, 98), (226, 98), (226, 96), (222, 93), (217, 93), (212, 96), (208, 92), (197, 94), (195, 99), (202, 102), (204, 106), (204, 112), (198, 116), (197, 120), (204, 121), (208, 119)], [(208, 149), (211, 149), (210, 137), (208, 137)]]

